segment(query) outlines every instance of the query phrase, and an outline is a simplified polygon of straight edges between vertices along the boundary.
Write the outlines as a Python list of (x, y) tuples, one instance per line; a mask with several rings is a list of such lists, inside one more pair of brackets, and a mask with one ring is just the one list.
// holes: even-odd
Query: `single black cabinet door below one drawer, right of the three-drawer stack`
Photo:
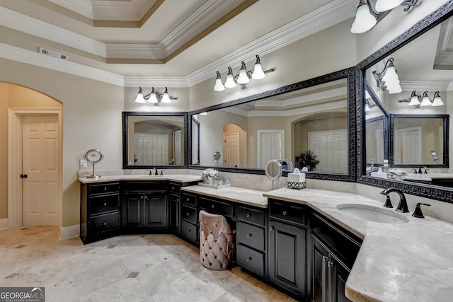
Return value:
[(270, 221), (269, 230), (269, 281), (304, 294), (305, 229)]

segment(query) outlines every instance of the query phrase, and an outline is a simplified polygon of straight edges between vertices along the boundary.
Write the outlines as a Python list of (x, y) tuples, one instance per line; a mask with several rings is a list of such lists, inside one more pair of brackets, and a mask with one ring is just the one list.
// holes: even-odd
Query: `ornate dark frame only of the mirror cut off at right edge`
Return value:
[(365, 112), (363, 109), (363, 100), (365, 98), (365, 71), (372, 65), (384, 59), (392, 52), (408, 44), (415, 38), (423, 35), (431, 28), (439, 25), (443, 21), (453, 16), (453, 1), (448, 1), (446, 4), (437, 8), (436, 11), (430, 13), (403, 34), (396, 37), (381, 49), (371, 54), (362, 62), (355, 66), (356, 68), (356, 110), (357, 110), (357, 182), (374, 187), (395, 187), (405, 193), (413, 194), (420, 197), (437, 199), (442, 202), (453, 203), (453, 190), (447, 187), (437, 187), (434, 185), (417, 185), (411, 182), (403, 182), (398, 180), (384, 180), (372, 178), (365, 175)]

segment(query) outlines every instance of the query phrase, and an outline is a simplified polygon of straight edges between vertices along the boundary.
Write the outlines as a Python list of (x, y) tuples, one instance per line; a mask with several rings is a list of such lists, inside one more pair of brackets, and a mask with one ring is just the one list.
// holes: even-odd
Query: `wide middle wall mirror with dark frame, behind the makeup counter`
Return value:
[(190, 130), (190, 168), (264, 175), (278, 159), (284, 173), (306, 166), (307, 178), (355, 181), (354, 81), (344, 69), (189, 112), (199, 130)]

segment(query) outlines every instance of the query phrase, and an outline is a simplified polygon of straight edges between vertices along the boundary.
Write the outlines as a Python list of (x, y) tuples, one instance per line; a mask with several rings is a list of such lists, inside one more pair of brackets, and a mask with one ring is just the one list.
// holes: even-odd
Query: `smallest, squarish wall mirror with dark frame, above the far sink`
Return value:
[(187, 112), (122, 112), (122, 168), (187, 168)]

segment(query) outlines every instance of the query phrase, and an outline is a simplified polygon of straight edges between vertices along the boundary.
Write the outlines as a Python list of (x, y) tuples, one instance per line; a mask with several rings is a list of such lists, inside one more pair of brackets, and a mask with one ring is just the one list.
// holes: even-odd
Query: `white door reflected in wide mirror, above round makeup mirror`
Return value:
[(271, 159), (283, 159), (285, 130), (258, 130), (258, 168), (265, 168)]

